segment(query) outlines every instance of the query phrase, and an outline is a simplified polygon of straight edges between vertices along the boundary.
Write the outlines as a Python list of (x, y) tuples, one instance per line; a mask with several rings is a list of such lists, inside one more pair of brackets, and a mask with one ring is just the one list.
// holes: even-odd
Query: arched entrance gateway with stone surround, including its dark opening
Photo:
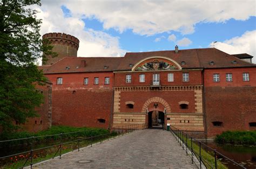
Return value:
[(142, 112), (146, 113), (145, 123), (149, 128), (165, 129), (166, 113), (171, 112), (171, 109), (163, 98), (152, 97), (144, 103)]

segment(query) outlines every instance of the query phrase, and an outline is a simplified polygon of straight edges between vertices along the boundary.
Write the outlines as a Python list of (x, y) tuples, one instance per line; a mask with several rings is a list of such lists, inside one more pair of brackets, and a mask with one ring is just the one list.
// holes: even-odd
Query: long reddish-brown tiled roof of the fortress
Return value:
[[(151, 56), (164, 56), (171, 58), (181, 65), (183, 69), (199, 68), (225, 68), (225, 67), (256, 67), (255, 64), (244, 62), (215, 48), (186, 49), (178, 53), (172, 51), (153, 52), (127, 52), (124, 57), (66, 57), (49, 66), (39, 66), (44, 73), (72, 73), (72, 72), (102, 72), (131, 70), (132, 66), (140, 60)], [(81, 61), (85, 60), (85, 67)], [(233, 61), (236, 61), (235, 63)], [(213, 65), (210, 65), (213, 62)]]

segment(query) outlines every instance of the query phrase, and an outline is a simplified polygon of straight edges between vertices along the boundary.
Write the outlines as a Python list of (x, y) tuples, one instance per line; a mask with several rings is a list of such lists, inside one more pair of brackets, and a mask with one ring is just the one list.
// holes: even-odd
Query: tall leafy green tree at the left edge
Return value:
[(0, 130), (16, 129), (14, 121), (25, 123), (37, 116), (35, 107), (43, 94), (35, 86), (46, 78), (35, 64), (41, 53), (52, 55), (52, 46), (42, 42), (41, 20), (31, 5), (39, 0), (0, 0)]

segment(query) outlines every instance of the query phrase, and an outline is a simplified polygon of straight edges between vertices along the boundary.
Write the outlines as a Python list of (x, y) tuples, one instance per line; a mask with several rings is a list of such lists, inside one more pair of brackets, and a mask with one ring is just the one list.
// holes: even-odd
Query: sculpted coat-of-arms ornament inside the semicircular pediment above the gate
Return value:
[(142, 66), (138, 66), (136, 71), (147, 71), (147, 70), (174, 70), (177, 69), (173, 64), (169, 64), (158, 59), (152, 60), (152, 62), (145, 63)]

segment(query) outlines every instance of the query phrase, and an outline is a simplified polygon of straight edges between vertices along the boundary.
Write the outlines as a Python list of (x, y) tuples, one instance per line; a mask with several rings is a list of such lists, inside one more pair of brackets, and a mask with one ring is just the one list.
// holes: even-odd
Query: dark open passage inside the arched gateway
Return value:
[(161, 111), (151, 111), (148, 113), (149, 129), (163, 129), (165, 114)]

